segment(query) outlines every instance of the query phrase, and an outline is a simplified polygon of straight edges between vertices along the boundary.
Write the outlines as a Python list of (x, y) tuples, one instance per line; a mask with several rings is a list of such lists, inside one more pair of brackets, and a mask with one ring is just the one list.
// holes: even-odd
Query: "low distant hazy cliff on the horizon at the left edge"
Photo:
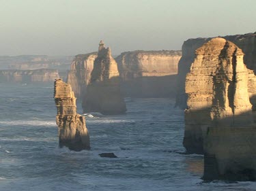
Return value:
[(57, 69), (1, 70), (1, 82), (54, 82), (59, 78)]

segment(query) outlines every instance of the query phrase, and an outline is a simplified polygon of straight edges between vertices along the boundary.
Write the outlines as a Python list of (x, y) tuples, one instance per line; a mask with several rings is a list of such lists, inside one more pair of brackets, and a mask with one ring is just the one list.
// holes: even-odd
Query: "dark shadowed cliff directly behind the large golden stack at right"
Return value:
[[(248, 33), (246, 35), (230, 35), (223, 37), (233, 42), (244, 52), (244, 63), (248, 69), (252, 69), (256, 73), (256, 33)], [(177, 74), (177, 97), (176, 106), (182, 109), (187, 107), (187, 95), (185, 93), (186, 74), (190, 71), (190, 66), (195, 58), (195, 50), (202, 46), (205, 42), (212, 38), (188, 39), (182, 46), (182, 58), (178, 64)]]

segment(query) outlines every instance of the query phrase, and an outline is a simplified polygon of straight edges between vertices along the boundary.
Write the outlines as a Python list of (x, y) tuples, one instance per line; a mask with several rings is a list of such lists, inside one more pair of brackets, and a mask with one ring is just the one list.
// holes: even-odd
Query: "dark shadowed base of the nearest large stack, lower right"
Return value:
[(209, 127), (203, 179), (256, 180), (256, 128)]

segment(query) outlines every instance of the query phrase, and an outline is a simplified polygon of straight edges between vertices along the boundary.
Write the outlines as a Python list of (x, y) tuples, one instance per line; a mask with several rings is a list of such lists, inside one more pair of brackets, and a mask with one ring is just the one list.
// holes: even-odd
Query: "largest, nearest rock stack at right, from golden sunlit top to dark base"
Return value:
[(255, 75), (243, 57), (232, 42), (214, 38), (196, 50), (186, 75), (184, 146), (204, 154), (203, 179), (256, 179)]

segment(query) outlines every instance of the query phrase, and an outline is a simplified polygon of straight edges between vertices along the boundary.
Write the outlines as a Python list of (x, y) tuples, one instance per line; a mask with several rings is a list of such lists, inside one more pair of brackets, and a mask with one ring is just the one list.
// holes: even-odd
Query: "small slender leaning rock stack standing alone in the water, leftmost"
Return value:
[(59, 129), (59, 146), (66, 146), (75, 151), (89, 149), (89, 133), (85, 126), (85, 117), (76, 114), (76, 97), (74, 97), (70, 84), (57, 79), (54, 98), (57, 107), (56, 124)]

